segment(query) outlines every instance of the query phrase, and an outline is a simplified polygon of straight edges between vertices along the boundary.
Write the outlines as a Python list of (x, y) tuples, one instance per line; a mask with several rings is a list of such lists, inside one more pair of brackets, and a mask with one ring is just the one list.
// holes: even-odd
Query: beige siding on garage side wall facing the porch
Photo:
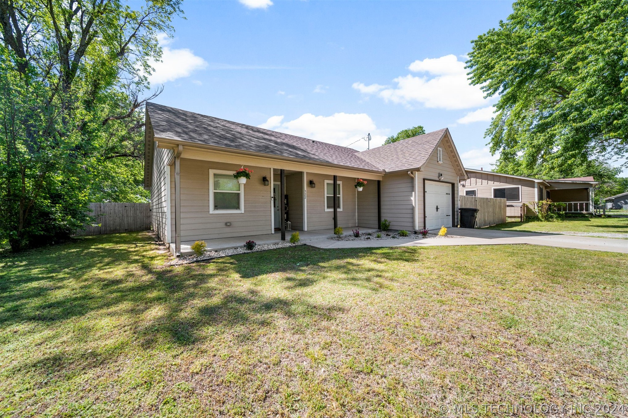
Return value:
[(408, 173), (384, 175), (381, 182), (381, 200), (382, 220), (390, 221), (391, 229), (414, 230), (414, 185)]

